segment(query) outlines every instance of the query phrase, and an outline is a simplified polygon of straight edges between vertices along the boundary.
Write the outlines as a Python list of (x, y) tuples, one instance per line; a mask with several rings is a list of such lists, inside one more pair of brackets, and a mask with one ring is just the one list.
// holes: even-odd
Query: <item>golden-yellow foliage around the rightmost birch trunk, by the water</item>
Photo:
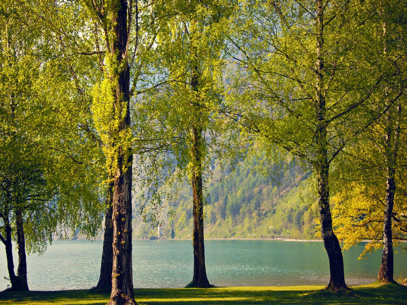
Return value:
[[(400, 102), (400, 101), (399, 101)], [(393, 107), (392, 107), (393, 108)], [(394, 110), (392, 109), (391, 110)], [(390, 116), (393, 122), (403, 122), (394, 112)], [(404, 115), (404, 114), (403, 114)], [(395, 117), (395, 118), (394, 118)], [(386, 202), (387, 166), (391, 160), (391, 147), (385, 143), (386, 126), (392, 130), (395, 126), (388, 126), (389, 116), (384, 115), (359, 138), (359, 141), (348, 148), (344, 167), (337, 168), (335, 176), (337, 183), (333, 183), (337, 194), (333, 197), (333, 216), (335, 231), (344, 242), (344, 249), (361, 240), (370, 240), (361, 253), (367, 253), (383, 248), (383, 210)], [(388, 131), (388, 129), (387, 129)], [(394, 207), (392, 209), (392, 235), (395, 246), (405, 248), (402, 240), (407, 238), (407, 214), (405, 185), (405, 132), (402, 127), (399, 138), (392, 139), (398, 147), (394, 166), (394, 182), (396, 185)]]

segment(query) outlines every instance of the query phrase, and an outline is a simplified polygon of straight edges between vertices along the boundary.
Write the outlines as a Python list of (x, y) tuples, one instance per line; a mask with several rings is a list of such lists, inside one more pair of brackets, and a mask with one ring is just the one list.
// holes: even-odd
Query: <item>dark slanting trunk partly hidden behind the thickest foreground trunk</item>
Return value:
[(109, 183), (106, 194), (106, 211), (105, 211), (105, 232), (103, 233), (103, 250), (101, 273), (96, 290), (112, 290), (112, 267), (113, 267), (113, 183)]

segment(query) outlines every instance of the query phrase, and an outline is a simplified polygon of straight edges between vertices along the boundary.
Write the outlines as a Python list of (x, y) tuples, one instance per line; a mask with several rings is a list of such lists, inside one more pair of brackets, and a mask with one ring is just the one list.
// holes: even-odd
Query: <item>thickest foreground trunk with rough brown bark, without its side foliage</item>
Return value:
[[(117, 14), (112, 18), (116, 39), (112, 55), (118, 61), (118, 80), (115, 96), (115, 111), (123, 117), (118, 127), (118, 135), (130, 128), (129, 64), (126, 54), (127, 44), (127, 1), (120, 0)], [(123, 115), (125, 114), (125, 115)], [(115, 143), (118, 144), (118, 143)], [(131, 175), (133, 156), (131, 144), (127, 141), (115, 147), (118, 154), (114, 172), (113, 189), (113, 268), (110, 305), (137, 304), (134, 300), (133, 272), (131, 263)]]

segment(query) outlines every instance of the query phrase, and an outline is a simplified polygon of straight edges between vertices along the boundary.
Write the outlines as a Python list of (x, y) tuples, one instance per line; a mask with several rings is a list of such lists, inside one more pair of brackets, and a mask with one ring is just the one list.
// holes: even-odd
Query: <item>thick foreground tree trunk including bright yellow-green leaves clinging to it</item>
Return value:
[[(133, 153), (130, 129), (129, 44), (132, 1), (109, 4), (90, 1), (95, 25), (101, 24), (105, 44), (104, 78), (93, 91), (96, 129), (105, 143), (112, 190), (113, 267), (109, 304), (136, 304), (133, 292), (131, 245), (131, 187)], [(136, 2), (136, 10), (138, 2)], [(136, 21), (138, 21), (138, 12)], [(97, 23), (96, 23), (97, 20)], [(108, 26), (112, 23), (112, 28)], [(138, 28), (136, 28), (138, 31)], [(138, 35), (138, 33), (137, 33)], [(97, 45), (96, 45), (97, 46)], [(136, 53), (136, 50), (134, 50)]]

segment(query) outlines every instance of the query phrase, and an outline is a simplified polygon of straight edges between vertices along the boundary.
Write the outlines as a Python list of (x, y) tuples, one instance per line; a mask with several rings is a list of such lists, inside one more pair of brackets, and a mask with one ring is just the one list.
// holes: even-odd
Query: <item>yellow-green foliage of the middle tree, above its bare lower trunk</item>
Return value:
[[(153, 178), (147, 177), (149, 183), (141, 183), (143, 192), (139, 192), (144, 203), (154, 203), (148, 212), (152, 220), (165, 209), (162, 197), (171, 200), (177, 195), (178, 181), (185, 176), (192, 181), (194, 175), (208, 179), (210, 172), (205, 169), (211, 158), (223, 160), (227, 156), (225, 159), (230, 160), (238, 155), (225, 140), (232, 125), (225, 124), (219, 113), (225, 67), (221, 54), (225, 24), (233, 6), (224, 1), (192, 1), (189, 5), (176, 2), (166, 9), (172, 17), (160, 28), (151, 54), (152, 70), (160, 76), (159, 86), (147, 91), (138, 105), (138, 113), (148, 113), (145, 118), (154, 126), (156, 137), (167, 139), (168, 144), (160, 158), (140, 157), (155, 165)], [(151, 167), (148, 170), (151, 172)], [(153, 179), (164, 182), (166, 178), (171, 191), (161, 188), (164, 193), (157, 193), (158, 183)], [(143, 209), (144, 204), (140, 207)]]

